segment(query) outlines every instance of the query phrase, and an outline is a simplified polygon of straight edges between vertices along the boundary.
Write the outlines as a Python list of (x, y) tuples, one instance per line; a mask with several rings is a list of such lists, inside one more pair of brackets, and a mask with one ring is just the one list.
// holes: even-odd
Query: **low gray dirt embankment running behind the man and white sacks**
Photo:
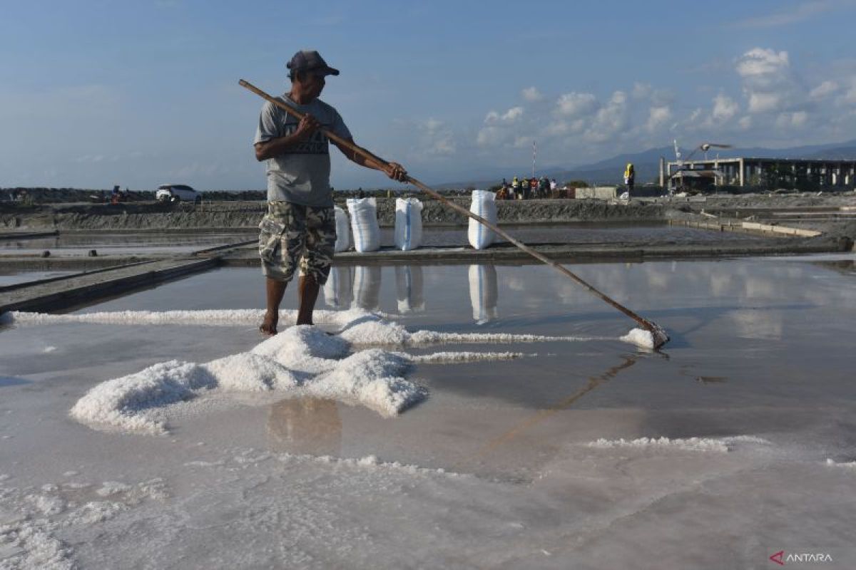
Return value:
[[(377, 219), (381, 226), (395, 225), (395, 198), (377, 198)], [(460, 197), (455, 203), (468, 209), (470, 199)], [(337, 203), (339, 201), (337, 200)], [(339, 204), (345, 206), (344, 200)], [(435, 200), (423, 202), (425, 225), (461, 226), (467, 217)], [(610, 204), (597, 200), (531, 200), (498, 203), (501, 223), (561, 223), (573, 221), (662, 220), (667, 217), (663, 206), (631, 203)], [(251, 229), (259, 226), (265, 203), (226, 202), (192, 204), (92, 204), (47, 205), (31, 207), (0, 206), (0, 229), (4, 230), (181, 230), (181, 229)]]

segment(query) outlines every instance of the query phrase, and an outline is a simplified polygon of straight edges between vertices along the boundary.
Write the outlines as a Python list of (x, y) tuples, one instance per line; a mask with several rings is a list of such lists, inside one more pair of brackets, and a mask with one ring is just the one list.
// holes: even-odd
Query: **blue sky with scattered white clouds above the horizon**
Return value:
[[(263, 189), (259, 97), (317, 49), (355, 140), (431, 184), (670, 144), (856, 138), (856, 1), (14, 2), (0, 187)], [(337, 188), (385, 186), (333, 150)]]

